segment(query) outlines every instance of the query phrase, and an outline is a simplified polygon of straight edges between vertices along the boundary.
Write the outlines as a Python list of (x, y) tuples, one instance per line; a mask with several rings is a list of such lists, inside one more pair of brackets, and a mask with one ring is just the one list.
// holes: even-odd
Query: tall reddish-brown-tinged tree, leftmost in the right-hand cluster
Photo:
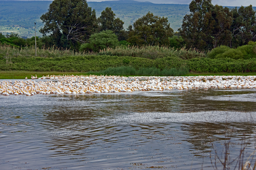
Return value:
[(189, 10), (190, 14), (184, 16), (182, 27), (179, 28), (182, 38), (188, 47), (199, 50), (211, 49), (215, 26), (212, 17), (214, 6), (211, 0), (193, 0), (189, 4)]

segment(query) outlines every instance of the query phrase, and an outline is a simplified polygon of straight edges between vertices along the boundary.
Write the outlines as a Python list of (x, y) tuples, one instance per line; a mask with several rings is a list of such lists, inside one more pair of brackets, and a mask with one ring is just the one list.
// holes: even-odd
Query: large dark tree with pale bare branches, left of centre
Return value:
[(95, 10), (88, 7), (86, 0), (54, 0), (40, 19), (45, 23), (40, 32), (44, 36), (50, 33), (57, 42), (61, 38), (73, 43), (86, 42), (97, 28)]

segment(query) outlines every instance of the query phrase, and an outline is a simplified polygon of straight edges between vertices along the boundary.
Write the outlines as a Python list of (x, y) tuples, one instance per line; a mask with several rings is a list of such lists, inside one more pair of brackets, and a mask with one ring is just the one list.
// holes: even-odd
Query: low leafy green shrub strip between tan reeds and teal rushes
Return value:
[(256, 72), (256, 59), (209, 59), (193, 58), (183, 60), (175, 57), (147, 59), (131, 56), (84, 55), (62, 57), (9, 57), (0, 56), (0, 70), (22, 71), (57, 71), (57, 72), (88, 72), (102, 71), (109, 67), (130, 66), (138, 70), (141, 68), (179, 69), (187, 67), (189, 72)]

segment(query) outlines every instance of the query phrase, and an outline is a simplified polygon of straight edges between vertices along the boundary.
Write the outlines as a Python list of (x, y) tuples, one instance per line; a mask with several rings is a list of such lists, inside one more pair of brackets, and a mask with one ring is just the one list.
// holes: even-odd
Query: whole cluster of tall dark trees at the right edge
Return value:
[(193, 0), (179, 32), (188, 47), (208, 50), (221, 45), (238, 47), (256, 40), (256, 16), (252, 6), (239, 9)]

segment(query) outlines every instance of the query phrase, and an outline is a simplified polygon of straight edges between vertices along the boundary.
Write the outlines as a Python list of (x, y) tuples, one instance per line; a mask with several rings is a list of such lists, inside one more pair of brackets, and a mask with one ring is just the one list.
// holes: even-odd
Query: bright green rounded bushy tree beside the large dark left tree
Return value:
[(99, 52), (102, 49), (115, 48), (118, 44), (118, 38), (115, 33), (111, 30), (104, 30), (91, 35), (89, 43), (82, 44), (79, 50)]

